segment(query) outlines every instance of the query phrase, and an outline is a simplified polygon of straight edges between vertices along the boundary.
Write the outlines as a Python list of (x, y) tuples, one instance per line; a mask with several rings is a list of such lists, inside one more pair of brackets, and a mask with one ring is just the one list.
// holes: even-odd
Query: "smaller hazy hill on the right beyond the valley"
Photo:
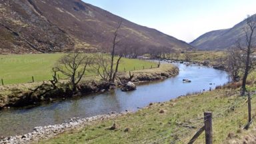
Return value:
[[(252, 15), (256, 19), (256, 15)], [(235, 45), (235, 42), (240, 39), (241, 43), (245, 44), (245, 31), (246, 21), (241, 21), (231, 29), (221, 29), (217, 31), (210, 31), (205, 33), (192, 41), (190, 44), (197, 49), (203, 50), (217, 50), (227, 49)], [(256, 38), (256, 33), (253, 35)]]

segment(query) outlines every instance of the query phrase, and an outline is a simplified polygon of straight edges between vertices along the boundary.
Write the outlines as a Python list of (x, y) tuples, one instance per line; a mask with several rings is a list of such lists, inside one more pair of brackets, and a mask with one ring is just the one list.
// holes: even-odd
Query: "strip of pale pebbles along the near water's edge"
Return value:
[(59, 133), (63, 133), (64, 131), (69, 131), (71, 129), (84, 127), (85, 125), (89, 125), (93, 121), (100, 121), (103, 119), (111, 119), (114, 117), (119, 117), (121, 115), (126, 115), (127, 112), (123, 113), (109, 113), (108, 115), (96, 115), (93, 117), (87, 117), (83, 119), (79, 119), (78, 117), (74, 117), (69, 120), (67, 123), (61, 123), (59, 125), (47, 125), (44, 127), (35, 127), (31, 133), (27, 133), (25, 135), (16, 135), (14, 137), (5, 137), (0, 139), (0, 144), (27, 144), (27, 143), (35, 143), (40, 139), (49, 139), (58, 135)]

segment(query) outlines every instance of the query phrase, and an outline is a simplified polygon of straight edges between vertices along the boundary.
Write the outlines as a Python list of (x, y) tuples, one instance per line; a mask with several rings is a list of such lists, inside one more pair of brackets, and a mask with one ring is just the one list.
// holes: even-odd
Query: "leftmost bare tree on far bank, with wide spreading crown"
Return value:
[(54, 69), (69, 77), (73, 91), (77, 91), (77, 84), (85, 75), (85, 70), (91, 61), (91, 55), (79, 52), (69, 53), (59, 59)]

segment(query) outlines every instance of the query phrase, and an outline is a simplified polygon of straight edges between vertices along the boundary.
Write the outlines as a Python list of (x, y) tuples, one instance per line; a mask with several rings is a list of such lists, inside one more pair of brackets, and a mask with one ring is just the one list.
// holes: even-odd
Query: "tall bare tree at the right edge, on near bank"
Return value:
[(255, 43), (255, 37), (253, 37), (253, 33), (256, 29), (256, 19), (255, 17), (247, 17), (245, 19), (246, 21), (246, 27), (244, 29), (245, 31), (245, 47), (243, 47), (240, 43), (240, 41), (237, 42), (237, 47), (242, 51), (242, 62), (244, 63), (243, 67), (243, 81), (242, 81), (242, 87), (241, 87), (241, 95), (245, 95), (246, 90), (246, 81), (247, 76), (249, 75), (249, 72), (253, 67), (255, 66), (255, 59), (252, 57), (252, 54), (256, 51), (256, 43)]

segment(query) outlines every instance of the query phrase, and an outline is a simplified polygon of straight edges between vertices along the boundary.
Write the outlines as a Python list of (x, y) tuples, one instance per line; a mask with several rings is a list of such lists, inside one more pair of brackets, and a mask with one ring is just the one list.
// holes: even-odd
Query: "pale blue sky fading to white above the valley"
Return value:
[(83, 0), (129, 21), (191, 42), (256, 13), (255, 0)]

